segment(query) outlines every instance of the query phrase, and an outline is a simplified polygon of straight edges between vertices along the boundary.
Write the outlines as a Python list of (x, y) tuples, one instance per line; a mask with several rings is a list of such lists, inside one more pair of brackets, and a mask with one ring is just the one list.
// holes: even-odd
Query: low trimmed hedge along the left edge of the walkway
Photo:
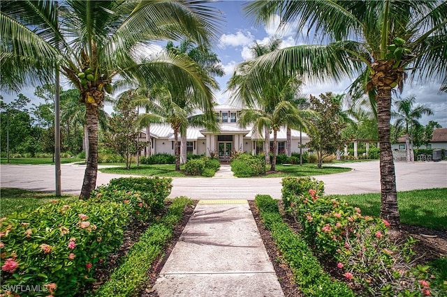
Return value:
[(161, 220), (145, 231), (138, 243), (135, 243), (126, 255), (124, 263), (117, 268), (110, 280), (103, 284), (94, 296), (137, 296), (140, 286), (148, 278), (147, 273), (152, 262), (163, 251), (167, 241), (173, 236), (173, 227), (182, 218), (184, 207), (193, 201), (186, 197), (177, 197)]

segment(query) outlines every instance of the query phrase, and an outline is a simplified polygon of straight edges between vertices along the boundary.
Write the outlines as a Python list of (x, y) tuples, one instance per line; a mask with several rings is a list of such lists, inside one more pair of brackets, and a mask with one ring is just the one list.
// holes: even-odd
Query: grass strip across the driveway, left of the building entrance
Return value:
[[(180, 169), (184, 169), (184, 165), (180, 166)], [(133, 165), (129, 170), (127, 170), (126, 167), (100, 168), (98, 170), (100, 172), (108, 174), (129, 174), (129, 175), (162, 176), (162, 177), (186, 176), (182, 171), (176, 172), (175, 165), (173, 164), (140, 165), (139, 167)]]

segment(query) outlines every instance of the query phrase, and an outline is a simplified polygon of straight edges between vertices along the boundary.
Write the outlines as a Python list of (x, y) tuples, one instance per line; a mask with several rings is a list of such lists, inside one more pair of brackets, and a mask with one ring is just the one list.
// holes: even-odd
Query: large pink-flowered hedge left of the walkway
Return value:
[[(129, 220), (152, 218), (172, 186), (170, 178), (140, 181), (147, 183), (147, 192), (155, 194), (118, 190), (120, 184), (127, 184), (123, 178), (111, 182), (115, 189), (100, 188), (87, 201), (45, 204), (2, 218), (0, 289), (40, 286), (46, 291), (27, 291), (27, 295), (74, 296), (94, 281), (95, 265), (119, 248)], [(148, 211), (140, 212), (138, 204)]]

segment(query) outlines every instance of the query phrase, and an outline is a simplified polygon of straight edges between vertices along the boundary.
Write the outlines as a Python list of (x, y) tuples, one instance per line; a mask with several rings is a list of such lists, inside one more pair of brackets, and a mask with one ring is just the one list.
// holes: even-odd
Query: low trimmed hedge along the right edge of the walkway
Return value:
[(312, 254), (312, 250), (281, 218), (277, 201), (270, 195), (256, 195), (263, 224), (271, 231), (277, 247), (291, 267), (295, 281), (306, 296), (355, 296), (343, 282), (331, 280)]

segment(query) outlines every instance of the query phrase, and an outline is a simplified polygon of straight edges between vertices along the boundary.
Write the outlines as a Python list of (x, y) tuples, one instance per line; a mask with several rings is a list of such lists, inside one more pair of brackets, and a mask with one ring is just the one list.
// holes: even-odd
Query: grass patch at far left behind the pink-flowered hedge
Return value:
[(56, 197), (52, 193), (34, 192), (15, 188), (0, 188), (0, 196), (0, 218), (10, 215), (15, 211), (32, 211), (53, 200), (66, 199), (67, 201), (75, 201), (78, 199), (77, 195), (62, 195), (61, 197)]

